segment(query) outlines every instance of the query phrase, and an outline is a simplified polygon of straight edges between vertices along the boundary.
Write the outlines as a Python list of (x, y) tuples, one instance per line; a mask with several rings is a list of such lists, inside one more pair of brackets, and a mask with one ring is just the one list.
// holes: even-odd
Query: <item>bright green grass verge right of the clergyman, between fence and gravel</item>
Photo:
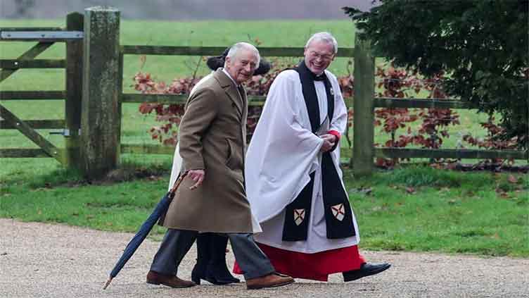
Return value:
[(508, 177), (412, 167), (350, 179), (362, 245), (528, 257), (529, 179)]

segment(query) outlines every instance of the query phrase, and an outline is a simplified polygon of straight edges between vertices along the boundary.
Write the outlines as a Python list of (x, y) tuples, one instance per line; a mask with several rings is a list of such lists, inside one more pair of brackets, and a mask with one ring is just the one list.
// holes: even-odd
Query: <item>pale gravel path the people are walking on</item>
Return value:
[[(132, 234), (0, 219), (0, 235), (0, 297), (529, 297), (529, 259), (366, 251), (368, 260), (393, 267), (352, 283), (336, 274), (329, 283), (297, 280), (271, 290), (248, 291), (243, 283), (172, 289), (145, 283), (158, 249), (151, 240), (103, 291)], [(182, 278), (190, 278), (195, 257), (193, 247)]]

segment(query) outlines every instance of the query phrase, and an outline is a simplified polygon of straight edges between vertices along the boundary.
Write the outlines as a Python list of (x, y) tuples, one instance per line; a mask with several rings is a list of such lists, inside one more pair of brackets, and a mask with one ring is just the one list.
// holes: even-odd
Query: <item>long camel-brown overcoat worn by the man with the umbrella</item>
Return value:
[(244, 187), (248, 106), (239, 89), (219, 69), (189, 97), (179, 126), (180, 172), (204, 169), (205, 178), (195, 190), (184, 178), (160, 221), (166, 228), (260, 232)]

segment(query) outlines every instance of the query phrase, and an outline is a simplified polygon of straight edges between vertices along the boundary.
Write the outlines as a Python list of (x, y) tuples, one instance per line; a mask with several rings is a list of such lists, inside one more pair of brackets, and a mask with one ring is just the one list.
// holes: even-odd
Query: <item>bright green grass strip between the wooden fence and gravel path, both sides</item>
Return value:
[[(0, 217), (134, 232), (167, 191), (170, 169), (170, 159), (138, 160), (125, 168), (148, 178), (103, 185), (49, 164), (31, 172), (34, 161), (22, 161), (0, 180)], [(423, 167), (344, 174), (364, 249), (529, 257), (527, 175), (509, 182), (509, 174)]]

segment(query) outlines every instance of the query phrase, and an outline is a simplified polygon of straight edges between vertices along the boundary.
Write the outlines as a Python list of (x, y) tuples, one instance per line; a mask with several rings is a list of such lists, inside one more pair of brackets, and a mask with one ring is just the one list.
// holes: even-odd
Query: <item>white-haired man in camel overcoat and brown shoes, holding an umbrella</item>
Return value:
[(177, 278), (177, 268), (198, 232), (219, 232), (229, 237), (248, 289), (293, 283), (293, 278), (275, 272), (255, 244), (253, 233), (259, 232), (260, 226), (253, 219), (244, 189), (248, 106), (241, 83), (252, 77), (259, 61), (255, 46), (235, 44), (224, 68), (202, 82), (189, 97), (179, 130), (181, 171), (188, 175), (162, 219), (168, 229), (147, 283), (195, 285)]

